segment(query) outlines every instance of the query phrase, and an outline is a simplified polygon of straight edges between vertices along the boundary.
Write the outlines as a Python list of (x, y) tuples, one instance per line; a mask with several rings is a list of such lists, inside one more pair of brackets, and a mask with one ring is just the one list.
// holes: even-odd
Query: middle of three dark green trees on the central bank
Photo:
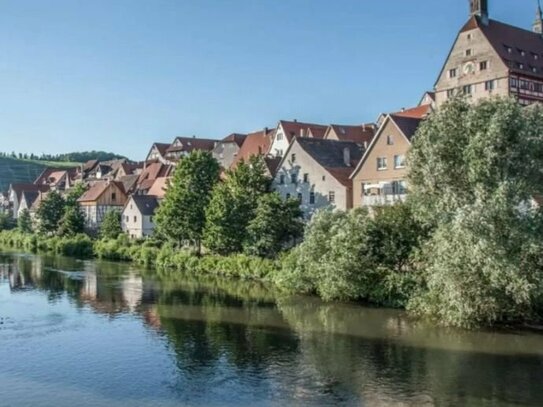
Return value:
[(259, 198), (270, 187), (264, 160), (253, 156), (226, 172), (226, 180), (213, 190), (206, 211), (204, 245), (214, 253), (243, 250), (247, 226), (254, 217)]

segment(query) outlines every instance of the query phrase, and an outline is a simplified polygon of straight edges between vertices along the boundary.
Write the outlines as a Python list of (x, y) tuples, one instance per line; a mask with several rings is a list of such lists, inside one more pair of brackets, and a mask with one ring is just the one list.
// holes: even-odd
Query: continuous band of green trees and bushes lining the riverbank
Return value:
[(148, 240), (129, 241), (116, 213), (99, 239), (80, 234), (67, 199), (49, 211), (54, 222), (39, 214), (41, 234), (19, 219), (0, 243), (262, 279), (452, 326), (541, 321), (543, 213), (532, 202), (543, 196), (543, 107), (452, 100), (420, 126), (408, 159), (406, 203), (321, 211), (304, 231), (298, 202), (270, 192), (260, 159), (219, 182), (211, 155), (195, 152), (180, 162)]

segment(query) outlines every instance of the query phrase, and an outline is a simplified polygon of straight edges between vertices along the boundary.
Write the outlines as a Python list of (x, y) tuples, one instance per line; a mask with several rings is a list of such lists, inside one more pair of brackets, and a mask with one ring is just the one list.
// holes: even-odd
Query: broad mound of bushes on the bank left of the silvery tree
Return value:
[(375, 216), (364, 209), (321, 211), (274, 281), (325, 300), (403, 306), (415, 287), (411, 253), (420, 244), (420, 230), (403, 204), (380, 208)]

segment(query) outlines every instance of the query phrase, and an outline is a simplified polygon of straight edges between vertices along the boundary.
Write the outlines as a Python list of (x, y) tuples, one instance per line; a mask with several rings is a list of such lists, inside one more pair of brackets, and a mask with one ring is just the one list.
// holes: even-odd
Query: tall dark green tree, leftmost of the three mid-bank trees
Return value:
[(219, 171), (209, 152), (198, 150), (181, 159), (155, 216), (161, 237), (177, 245), (189, 241), (200, 250), (205, 211)]

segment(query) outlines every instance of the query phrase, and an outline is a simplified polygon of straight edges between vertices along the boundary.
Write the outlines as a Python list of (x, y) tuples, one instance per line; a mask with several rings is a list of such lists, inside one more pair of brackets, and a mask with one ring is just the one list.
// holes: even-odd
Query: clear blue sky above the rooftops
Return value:
[[(490, 0), (529, 28), (536, 0)], [(374, 121), (431, 89), (468, 0), (0, 0), (0, 151)]]

